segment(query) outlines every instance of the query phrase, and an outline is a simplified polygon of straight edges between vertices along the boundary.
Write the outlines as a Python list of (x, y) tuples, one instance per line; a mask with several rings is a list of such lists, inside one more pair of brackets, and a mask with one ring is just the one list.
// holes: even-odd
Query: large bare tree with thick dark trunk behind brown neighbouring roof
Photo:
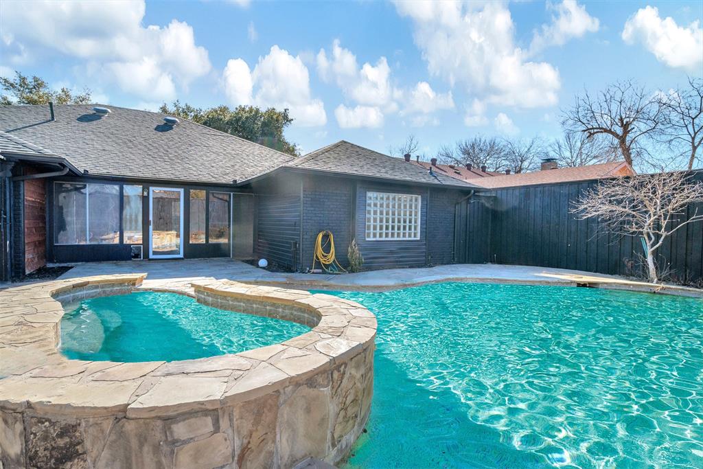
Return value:
[(612, 84), (594, 97), (588, 91), (576, 96), (574, 106), (563, 114), (562, 124), (568, 131), (605, 138), (632, 165), (646, 152), (642, 143), (657, 130), (663, 114), (657, 96), (628, 80)]

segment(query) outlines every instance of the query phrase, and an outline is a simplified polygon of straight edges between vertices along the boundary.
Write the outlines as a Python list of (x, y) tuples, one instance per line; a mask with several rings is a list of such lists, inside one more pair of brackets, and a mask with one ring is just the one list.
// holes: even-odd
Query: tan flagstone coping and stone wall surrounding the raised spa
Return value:
[(0, 292), (0, 468), (290, 468), (347, 455), (373, 394), (373, 314), (299, 290), (164, 282), (150, 289), (312, 330), (197, 360), (115, 363), (58, 352), (61, 302), (129, 293), (144, 277)]

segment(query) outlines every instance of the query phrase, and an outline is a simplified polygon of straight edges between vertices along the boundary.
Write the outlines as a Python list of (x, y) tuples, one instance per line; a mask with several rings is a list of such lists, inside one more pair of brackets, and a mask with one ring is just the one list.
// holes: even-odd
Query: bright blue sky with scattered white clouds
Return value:
[(96, 102), (288, 108), (303, 153), (552, 139), (576, 94), (703, 76), (703, 1), (0, 2), (0, 75)]

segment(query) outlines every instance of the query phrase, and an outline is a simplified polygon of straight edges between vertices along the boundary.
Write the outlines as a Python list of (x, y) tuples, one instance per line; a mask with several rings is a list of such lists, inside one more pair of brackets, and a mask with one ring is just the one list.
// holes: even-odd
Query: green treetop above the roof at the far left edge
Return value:
[(15, 72), (13, 79), (0, 77), (0, 85), (4, 90), (4, 94), (0, 96), (0, 105), (4, 106), (49, 104), (50, 101), (56, 104), (87, 104), (91, 102), (91, 91), (87, 88), (80, 94), (72, 94), (67, 88), (56, 91), (49, 88), (49, 84), (43, 79), (37, 76), (28, 78), (20, 72)]

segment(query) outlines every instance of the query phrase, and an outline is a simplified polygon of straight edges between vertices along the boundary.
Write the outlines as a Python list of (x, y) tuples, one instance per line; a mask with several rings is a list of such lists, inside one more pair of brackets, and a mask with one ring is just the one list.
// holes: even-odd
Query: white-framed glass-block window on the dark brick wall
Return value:
[(420, 195), (367, 192), (366, 239), (420, 239), (420, 200)]

